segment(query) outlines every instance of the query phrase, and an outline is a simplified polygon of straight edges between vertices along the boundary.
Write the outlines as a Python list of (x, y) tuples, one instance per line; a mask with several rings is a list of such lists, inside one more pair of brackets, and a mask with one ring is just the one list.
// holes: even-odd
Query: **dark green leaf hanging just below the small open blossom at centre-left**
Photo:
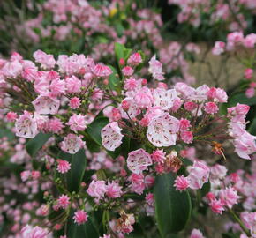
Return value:
[(72, 164), (71, 169), (66, 174), (67, 190), (70, 192), (78, 192), (87, 166), (84, 149), (79, 150), (79, 152), (75, 154), (61, 152), (59, 154), (59, 158), (62, 160), (68, 160)]

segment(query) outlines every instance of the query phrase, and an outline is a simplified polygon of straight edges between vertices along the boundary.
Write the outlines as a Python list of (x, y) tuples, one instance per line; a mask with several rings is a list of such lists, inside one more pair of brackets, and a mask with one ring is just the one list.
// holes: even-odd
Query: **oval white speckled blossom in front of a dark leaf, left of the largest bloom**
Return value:
[(117, 122), (109, 123), (102, 128), (102, 145), (109, 151), (115, 151), (121, 145), (123, 137)]

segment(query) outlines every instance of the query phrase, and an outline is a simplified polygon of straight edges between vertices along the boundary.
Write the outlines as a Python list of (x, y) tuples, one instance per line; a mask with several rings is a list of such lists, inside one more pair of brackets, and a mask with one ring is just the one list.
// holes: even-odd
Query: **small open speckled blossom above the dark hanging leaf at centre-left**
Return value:
[(83, 142), (82, 139), (75, 134), (68, 134), (60, 143), (60, 147), (64, 152), (69, 152), (72, 154), (78, 152), (83, 146), (85, 146), (85, 142)]

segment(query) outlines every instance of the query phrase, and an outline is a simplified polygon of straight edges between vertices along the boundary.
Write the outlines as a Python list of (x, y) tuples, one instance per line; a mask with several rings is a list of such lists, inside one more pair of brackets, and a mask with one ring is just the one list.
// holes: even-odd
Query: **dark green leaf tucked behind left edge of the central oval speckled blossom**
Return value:
[(108, 123), (109, 119), (107, 117), (99, 116), (94, 119), (93, 123), (87, 126), (87, 134), (100, 146), (102, 146), (102, 128)]

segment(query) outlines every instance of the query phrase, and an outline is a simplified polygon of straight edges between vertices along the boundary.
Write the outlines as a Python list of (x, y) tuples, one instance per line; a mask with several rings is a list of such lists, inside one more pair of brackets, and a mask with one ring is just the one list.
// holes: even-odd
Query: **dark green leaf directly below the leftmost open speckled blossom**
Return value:
[(50, 137), (51, 134), (43, 134), (40, 132), (26, 143), (26, 151), (30, 156), (34, 157), (34, 155), (41, 150), (41, 147), (49, 140)]

